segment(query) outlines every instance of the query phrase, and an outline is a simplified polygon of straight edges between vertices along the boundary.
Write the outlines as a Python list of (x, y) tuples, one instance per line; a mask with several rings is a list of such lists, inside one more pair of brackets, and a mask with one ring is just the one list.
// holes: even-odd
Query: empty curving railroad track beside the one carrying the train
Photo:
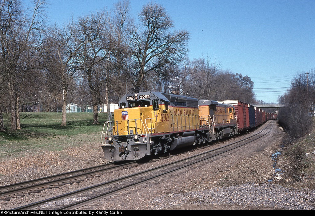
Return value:
[[(156, 180), (163, 176), (169, 175), (170, 173), (178, 172), (180, 170), (186, 169), (187, 167), (193, 166), (203, 161), (207, 161), (218, 155), (244, 146), (261, 137), (266, 136), (272, 130), (272, 127), (273, 124), (269, 123), (261, 132), (240, 141), (222, 146), (220, 148), (209, 150), (204, 153), (194, 155), (179, 161), (154, 167), (152, 169), (144, 170), (142, 172), (130, 174), (121, 178), (116, 178), (101, 184), (96, 184), (87, 188), (76, 190), (60, 196), (55, 196), (15, 209), (76, 209), (89, 203), (98, 201), (104, 197), (112, 196), (113, 194), (116, 194), (120, 191), (124, 191), (137, 185), (151, 182), (152, 180)], [(73, 196), (76, 197), (72, 198)]]

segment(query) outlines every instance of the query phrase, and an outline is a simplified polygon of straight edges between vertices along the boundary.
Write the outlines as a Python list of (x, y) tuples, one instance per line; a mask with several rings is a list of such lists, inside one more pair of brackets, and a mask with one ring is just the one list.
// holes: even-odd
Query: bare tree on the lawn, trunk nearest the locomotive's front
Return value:
[[(98, 105), (101, 103), (101, 90), (106, 80), (110, 53), (110, 33), (106, 11), (80, 17), (78, 28), (81, 41), (85, 41), (76, 57), (79, 69), (84, 72), (89, 83), (89, 91), (93, 103), (93, 124), (98, 124)], [(106, 67), (107, 66), (107, 67)]]

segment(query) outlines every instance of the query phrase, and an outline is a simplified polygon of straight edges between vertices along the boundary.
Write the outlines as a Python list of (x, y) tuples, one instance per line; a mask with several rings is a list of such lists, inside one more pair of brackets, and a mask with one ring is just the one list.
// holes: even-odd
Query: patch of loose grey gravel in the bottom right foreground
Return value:
[(196, 208), (223, 204), (249, 208), (315, 209), (314, 201), (314, 190), (296, 190), (270, 183), (250, 183), (182, 194), (173, 193), (156, 198), (151, 203), (154, 209), (185, 209), (187, 204), (195, 205)]

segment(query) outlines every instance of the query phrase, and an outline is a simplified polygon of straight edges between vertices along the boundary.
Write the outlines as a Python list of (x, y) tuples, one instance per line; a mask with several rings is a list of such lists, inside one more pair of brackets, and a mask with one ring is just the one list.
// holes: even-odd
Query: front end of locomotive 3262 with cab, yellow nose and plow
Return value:
[(102, 149), (106, 159), (136, 160), (150, 155), (151, 134), (163, 127), (163, 120), (169, 117), (168, 103), (158, 92), (126, 94), (114, 110), (114, 121), (104, 124)]

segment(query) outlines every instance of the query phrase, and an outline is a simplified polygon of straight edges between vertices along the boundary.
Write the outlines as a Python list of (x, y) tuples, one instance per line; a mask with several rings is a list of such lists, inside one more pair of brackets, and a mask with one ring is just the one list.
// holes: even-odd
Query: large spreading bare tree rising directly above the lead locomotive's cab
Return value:
[(132, 31), (129, 61), (124, 67), (134, 86), (141, 86), (148, 73), (181, 62), (189, 38), (187, 31), (170, 32), (173, 21), (161, 5), (149, 3), (138, 16), (140, 26)]

